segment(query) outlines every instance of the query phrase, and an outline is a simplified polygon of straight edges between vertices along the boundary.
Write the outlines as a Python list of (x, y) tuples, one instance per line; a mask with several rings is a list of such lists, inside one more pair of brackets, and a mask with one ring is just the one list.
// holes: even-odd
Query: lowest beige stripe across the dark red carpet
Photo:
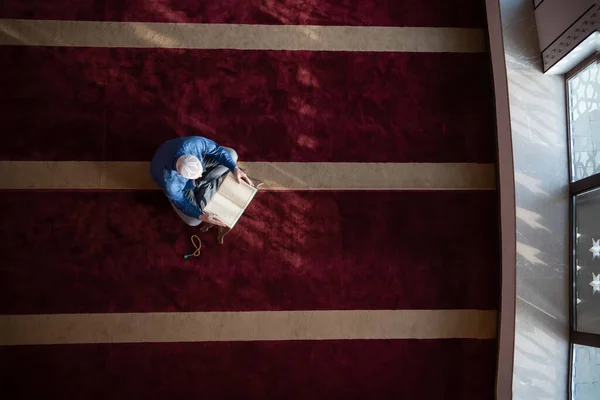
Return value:
[(0, 316), (0, 345), (328, 339), (494, 339), (482, 310), (259, 311)]

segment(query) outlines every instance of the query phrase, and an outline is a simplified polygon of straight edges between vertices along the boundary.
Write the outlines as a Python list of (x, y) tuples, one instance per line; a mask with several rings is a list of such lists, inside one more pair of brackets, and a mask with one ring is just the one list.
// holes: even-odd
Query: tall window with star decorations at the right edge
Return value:
[(572, 400), (600, 398), (600, 61), (567, 75)]

